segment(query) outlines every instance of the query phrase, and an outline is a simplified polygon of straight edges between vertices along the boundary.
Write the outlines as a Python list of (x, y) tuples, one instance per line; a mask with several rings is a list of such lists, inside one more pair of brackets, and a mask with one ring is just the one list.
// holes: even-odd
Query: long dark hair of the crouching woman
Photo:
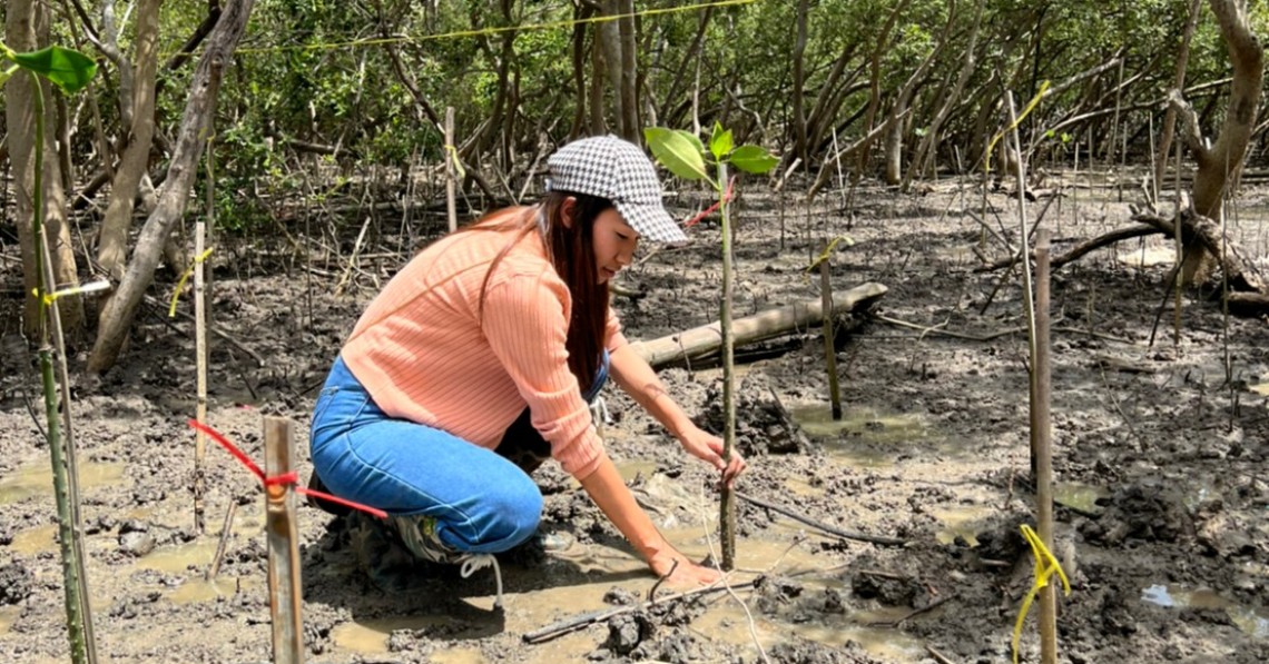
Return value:
[[(575, 199), (572, 223), (565, 224), (565, 200)], [(572, 298), (572, 316), (569, 321), (569, 333), (565, 348), (569, 351), (569, 370), (577, 376), (581, 390), (590, 389), (599, 370), (600, 354), (604, 348), (604, 331), (608, 319), (608, 288), (598, 284), (599, 272), (595, 262), (594, 228), (595, 218), (613, 207), (608, 199), (569, 191), (549, 191), (542, 199), (541, 209), (546, 217), (547, 257), (556, 274), (569, 286)], [(490, 214), (459, 232), (468, 231), (511, 231), (518, 229), (511, 241), (494, 256), (485, 281), (481, 284), (480, 309), (485, 312), (485, 293), (490, 278), (497, 270), (497, 264), (511, 247), (538, 229), (538, 215), (511, 215), (500, 219), (503, 214)]]

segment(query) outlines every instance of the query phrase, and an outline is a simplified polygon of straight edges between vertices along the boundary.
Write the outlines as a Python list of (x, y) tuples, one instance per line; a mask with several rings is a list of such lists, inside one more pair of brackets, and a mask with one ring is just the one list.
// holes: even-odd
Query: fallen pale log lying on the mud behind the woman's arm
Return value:
[[(831, 316), (841, 316), (853, 310), (865, 310), (872, 307), (888, 289), (881, 284), (860, 284), (853, 289), (832, 295)], [(824, 317), (824, 305), (819, 299), (789, 304), (754, 316), (732, 321), (732, 338), (736, 346), (758, 343), (769, 338), (793, 332), (808, 332), (819, 326)], [(674, 335), (631, 345), (647, 360), (654, 369), (673, 364), (708, 357), (717, 354), (722, 346), (722, 327), (718, 321), (694, 327)]]

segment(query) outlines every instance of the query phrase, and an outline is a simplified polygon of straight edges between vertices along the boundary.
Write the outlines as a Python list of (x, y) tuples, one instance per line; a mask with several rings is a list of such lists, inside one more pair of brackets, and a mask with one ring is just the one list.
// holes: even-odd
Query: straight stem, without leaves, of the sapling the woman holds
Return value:
[[(727, 186), (727, 162), (718, 162), (718, 213), (722, 217), (722, 304), (720, 307), (720, 332), (722, 332), (722, 460), (730, 464), (736, 449), (736, 366), (735, 333), (731, 329), (731, 201), (725, 195)], [(720, 501), (718, 528), (722, 549), (721, 565), (731, 571), (736, 564), (736, 494), (727, 485), (722, 487)]]

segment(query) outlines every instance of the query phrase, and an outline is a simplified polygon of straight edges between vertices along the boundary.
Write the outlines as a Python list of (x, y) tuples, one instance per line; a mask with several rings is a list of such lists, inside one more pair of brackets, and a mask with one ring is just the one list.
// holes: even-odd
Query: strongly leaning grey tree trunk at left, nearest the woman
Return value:
[(103, 373), (114, 366), (119, 359), (137, 308), (154, 280), (164, 242), (185, 210), (198, 158), (207, 143), (207, 128), (216, 112), (223, 67), (233, 54), (239, 39), (242, 38), (254, 4), (255, 0), (228, 3), (208, 38), (207, 49), (199, 57), (190, 81), (189, 99), (181, 117), (168, 180), (159, 198), (159, 205), (141, 229), (141, 237), (137, 239), (136, 251), (123, 274), (123, 280), (102, 310), (96, 343), (89, 356), (90, 371)]

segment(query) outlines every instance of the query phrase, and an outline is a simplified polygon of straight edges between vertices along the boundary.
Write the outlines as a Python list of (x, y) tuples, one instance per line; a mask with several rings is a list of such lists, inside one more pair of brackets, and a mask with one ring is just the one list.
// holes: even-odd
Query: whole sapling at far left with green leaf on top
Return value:
[[(84, 545), (80, 539), (79, 483), (75, 460), (75, 437), (70, 414), (70, 375), (66, 367), (66, 341), (62, 336), (57, 298), (82, 293), (82, 288), (57, 291), (48, 241), (44, 237), (44, 91), (41, 79), (49, 81), (71, 95), (84, 89), (96, 72), (96, 63), (88, 56), (62, 47), (18, 53), (0, 43), (0, 60), (11, 63), (0, 72), (3, 85), (18, 70), (30, 79), (33, 112), (36, 117), (36, 150), (30, 215), (32, 241), (36, 245), (34, 262), (38, 286), (37, 299), (39, 329), (39, 374), (44, 392), (44, 414), (48, 426), (48, 454), (53, 466), (53, 494), (57, 503), (57, 540), (62, 555), (62, 580), (66, 594), (66, 630), (70, 640), (71, 660), (76, 664), (96, 663), (96, 644), (93, 637), (93, 617), (89, 607), (88, 579), (84, 573)], [(15, 163), (15, 167), (23, 165)], [(53, 354), (61, 378), (61, 399), (55, 379)], [(66, 437), (58, 412), (65, 417)]]

